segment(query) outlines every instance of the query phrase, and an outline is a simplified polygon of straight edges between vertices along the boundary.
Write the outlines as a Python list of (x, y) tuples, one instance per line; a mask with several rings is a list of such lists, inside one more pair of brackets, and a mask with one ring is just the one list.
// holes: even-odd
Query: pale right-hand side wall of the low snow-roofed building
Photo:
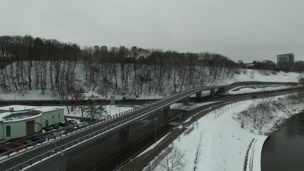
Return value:
[(45, 127), (45, 120), (48, 120), (48, 125), (59, 123), (64, 121), (64, 109), (56, 109), (51, 111), (45, 111), (41, 115), (42, 127)]

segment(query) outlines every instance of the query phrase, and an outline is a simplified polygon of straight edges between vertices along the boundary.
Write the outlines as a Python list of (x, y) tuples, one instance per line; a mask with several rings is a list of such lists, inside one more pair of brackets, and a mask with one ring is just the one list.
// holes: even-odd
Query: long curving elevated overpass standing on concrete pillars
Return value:
[[(123, 141), (130, 141), (130, 125), (138, 120), (152, 116), (157, 111), (162, 111), (162, 117), (164, 120), (169, 121), (168, 116), (168, 106), (172, 103), (182, 100), (184, 104), (187, 104), (189, 96), (191, 94), (199, 94), (203, 90), (210, 90), (210, 95), (214, 95), (215, 89), (220, 88), (229, 88), (239, 85), (269, 85), (269, 84), (283, 84), (283, 85), (294, 85), (294, 83), (285, 83), (285, 82), (247, 82), (241, 84), (230, 84), (230, 85), (220, 85), (220, 86), (210, 86), (210, 87), (201, 87), (193, 88), (180, 92), (175, 95), (165, 97), (161, 100), (153, 102), (149, 105), (144, 105), (137, 107), (129, 112), (119, 113), (102, 120), (85, 125), (83, 128), (77, 128), (76, 130), (71, 130), (67, 132), (67, 135), (57, 134), (56, 140), (53, 140), (53, 143), (41, 144), (31, 152), (23, 152), (18, 157), (11, 157), (5, 162), (0, 164), (0, 170), (21, 170), (25, 167), (29, 167), (28, 170), (31, 170), (31, 165), (37, 163), (38, 161), (43, 160), (52, 160), (58, 156), (64, 157), (68, 153), (79, 149), (86, 144), (100, 140), (100, 137), (104, 137), (112, 133), (113, 131), (119, 132), (119, 136)], [(56, 146), (56, 147), (55, 147)], [(34, 152), (33, 152), (34, 151)], [(17, 159), (16, 159), (17, 158)], [(61, 161), (61, 160), (60, 160)], [(60, 170), (65, 170), (64, 163), (58, 164)]]

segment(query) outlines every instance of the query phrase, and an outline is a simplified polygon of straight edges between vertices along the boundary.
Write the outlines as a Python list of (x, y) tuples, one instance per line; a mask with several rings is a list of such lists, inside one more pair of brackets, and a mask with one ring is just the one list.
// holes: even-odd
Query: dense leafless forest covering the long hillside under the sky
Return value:
[[(256, 61), (272, 69), (269, 61)], [(67, 96), (91, 89), (114, 94), (172, 94), (232, 78), (244, 68), (224, 55), (179, 53), (136, 46), (93, 46), (25, 36), (0, 36), (0, 89), (3, 92), (39, 89)], [(268, 68), (267, 68), (268, 67)]]

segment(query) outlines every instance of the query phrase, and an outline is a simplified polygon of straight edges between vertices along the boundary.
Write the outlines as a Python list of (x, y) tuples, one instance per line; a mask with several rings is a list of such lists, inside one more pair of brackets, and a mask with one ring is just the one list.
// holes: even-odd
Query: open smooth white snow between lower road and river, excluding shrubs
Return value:
[[(222, 112), (209, 112), (194, 124), (195, 128), (188, 135), (180, 135), (179, 140), (174, 140), (174, 145), (185, 151), (186, 163), (183, 170), (193, 170), (197, 149), (199, 157), (196, 170), (242, 170), (245, 153), (252, 138), (256, 139), (254, 147), (251, 146), (256, 155), (253, 170), (259, 170), (258, 157), (266, 136), (250, 133), (233, 119), (235, 113), (244, 110), (250, 103), (250, 100), (237, 102), (222, 107)], [(199, 148), (197, 144), (200, 144)], [(156, 167), (154, 170), (160, 168)]]

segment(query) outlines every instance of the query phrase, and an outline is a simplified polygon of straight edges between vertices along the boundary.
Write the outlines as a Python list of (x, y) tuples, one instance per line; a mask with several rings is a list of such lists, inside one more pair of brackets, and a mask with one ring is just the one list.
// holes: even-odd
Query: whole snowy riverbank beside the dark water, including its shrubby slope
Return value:
[[(263, 134), (273, 131), (278, 120), (285, 120), (303, 109), (301, 104), (288, 103), (287, 95), (271, 97), (271, 100), (283, 102), (288, 107), (282, 106), (277, 110), (270, 107), (273, 116), (263, 122), (262, 128), (248, 124), (249, 120), (242, 128), (238, 119), (239, 113), (257, 103), (257, 100), (225, 105), (190, 125), (189, 128), (194, 126), (194, 129), (188, 135), (182, 134), (173, 141), (175, 146), (185, 151), (183, 170), (193, 170), (195, 167), (196, 170), (260, 171), (261, 150), (267, 137)], [(157, 166), (154, 170), (160, 170), (160, 167)]]

